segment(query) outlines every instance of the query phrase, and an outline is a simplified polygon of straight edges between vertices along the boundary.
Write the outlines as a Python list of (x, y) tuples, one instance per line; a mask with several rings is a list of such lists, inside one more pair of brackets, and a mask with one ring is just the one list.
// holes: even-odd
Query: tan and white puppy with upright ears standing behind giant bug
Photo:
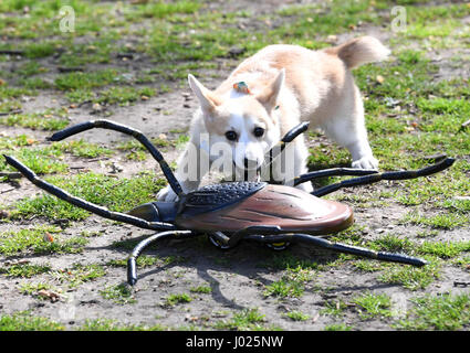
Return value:
[[(215, 90), (189, 75), (200, 107), (191, 121), (190, 141), (177, 162), (176, 176), (184, 191), (199, 186), (220, 158), (221, 146), (231, 151), (222, 158), (223, 165), (259, 171), (264, 153), (300, 121), (310, 121), (311, 128), (321, 128), (347, 148), (353, 168), (377, 169), (367, 139), (362, 97), (351, 69), (388, 54), (388, 49), (372, 36), (320, 51), (279, 44), (244, 60)], [(249, 90), (234, 89), (237, 83), (243, 83)], [(291, 163), (288, 169), (295, 176), (306, 172), (307, 148), (302, 136), (291, 145), (292, 158), (283, 160)], [(285, 168), (273, 168), (273, 174), (275, 170)], [(272, 178), (285, 180), (285, 175)], [(312, 191), (310, 183), (297, 188)], [(174, 201), (176, 194), (166, 188), (158, 199)]]

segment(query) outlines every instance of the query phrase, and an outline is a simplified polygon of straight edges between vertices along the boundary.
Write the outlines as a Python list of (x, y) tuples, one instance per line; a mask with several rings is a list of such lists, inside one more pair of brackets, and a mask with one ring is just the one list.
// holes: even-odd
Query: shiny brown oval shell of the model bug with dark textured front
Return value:
[(226, 233), (251, 226), (279, 226), (283, 233), (320, 235), (345, 229), (354, 222), (349, 206), (295, 188), (247, 182), (221, 185), (224, 184), (189, 193), (175, 224), (187, 229)]

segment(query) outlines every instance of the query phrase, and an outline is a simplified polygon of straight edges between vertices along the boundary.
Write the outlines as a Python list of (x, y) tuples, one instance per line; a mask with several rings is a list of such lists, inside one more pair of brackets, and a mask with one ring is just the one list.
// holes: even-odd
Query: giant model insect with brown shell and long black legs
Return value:
[[(375, 258), (385, 261), (424, 266), (426, 261), (403, 255), (374, 252), (346, 244), (332, 243), (321, 236), (349, 227), (353, 211), (349, 206), (320, 196), (342, 188), (357, 186), (380, 180), (404, 180), (426, 176), (449, 168), (453, 159), (447, 158), (436, 164), (417, 171), (396, 171), (378, 173), (375, 170), (335, 168), (299, 175), (293, 185), (312, 181), (315, 178), (333, 175), (362, 175), (320, 188), (312, 194), (296, 188), (267, 182), (227, 182), (202, 186), (184, 193), (170, 168), (156, 147), (138, 130), (109, 120), (82, 122), (54, 133), (50, 140), (60, 141), (72, 135), (103, 128), (135, 137), (159, 163), (168, 183), (178, 195), (177, 202), (150, 202), (127, 213), (112, 212), (105, 207), (75, 197), (41, 179), (33, 171), (12, 157), (4, 156), (7, 162), (18, 169), (28, 180), (44, 191), (77, 207), (113, 221), (124, 222), (140, 228), (157, 231), (155, 235), (142, 240), (132, 252), (127, 261), (127, 281), (137, 281), (136, 259), (149, 244), (166, 238), (186, 238), (207, 234), (213, 245), (226, 249), (241, 239), (252, 239), (268, 244), (274, 249), (283, 249), (290, 243), (309, 243), (334, 252)], [(307, 124), (293, 128), (267, 153), (267, 163), (284, 149), (285, 145), (305, 131)]]

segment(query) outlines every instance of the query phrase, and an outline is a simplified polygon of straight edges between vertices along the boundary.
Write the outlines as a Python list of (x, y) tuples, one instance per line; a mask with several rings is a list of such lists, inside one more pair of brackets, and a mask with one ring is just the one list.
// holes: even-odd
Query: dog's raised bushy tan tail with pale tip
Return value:
[(379, 40), (373, 36), (359, 36), (338, 46), (328, 47), (326, 53), (337, 55), (347, 68), (382, 61), (390, 54)]

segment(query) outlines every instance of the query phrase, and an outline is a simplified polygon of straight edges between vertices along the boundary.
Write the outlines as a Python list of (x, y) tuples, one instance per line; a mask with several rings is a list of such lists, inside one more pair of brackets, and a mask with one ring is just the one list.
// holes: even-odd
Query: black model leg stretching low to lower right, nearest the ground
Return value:
[(323, 247), (333, 252), (374, 258), (382, 261), (400, 263), (400, 264), (414, 265), (418, 267), (427, 264), (427, 261), (417, 257), (412, 257), (412, 256), (408, 256), (404, 254), (374, 252), (370, 249), (366, 249), (364, 247), (346, 245), (341, 243), (332, 243), (327, 239), (316, 237), (310, 234), (294, 234), (292, 235), (292, 240), (299, 242), (299, 243), (309, 243), (309, 244)]

